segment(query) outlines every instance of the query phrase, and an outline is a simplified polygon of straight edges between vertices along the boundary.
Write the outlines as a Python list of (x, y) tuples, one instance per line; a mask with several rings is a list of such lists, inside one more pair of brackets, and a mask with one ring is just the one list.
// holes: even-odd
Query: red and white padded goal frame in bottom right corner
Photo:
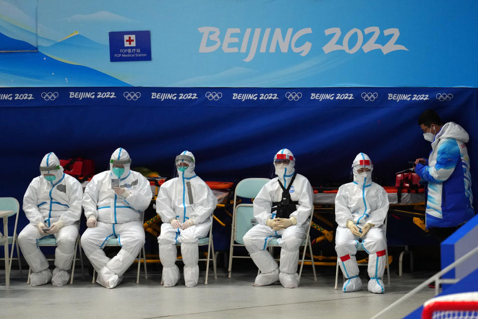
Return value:
[(423, 305), (422, 319), (478, 319), (478, 292), (430, 299)]

